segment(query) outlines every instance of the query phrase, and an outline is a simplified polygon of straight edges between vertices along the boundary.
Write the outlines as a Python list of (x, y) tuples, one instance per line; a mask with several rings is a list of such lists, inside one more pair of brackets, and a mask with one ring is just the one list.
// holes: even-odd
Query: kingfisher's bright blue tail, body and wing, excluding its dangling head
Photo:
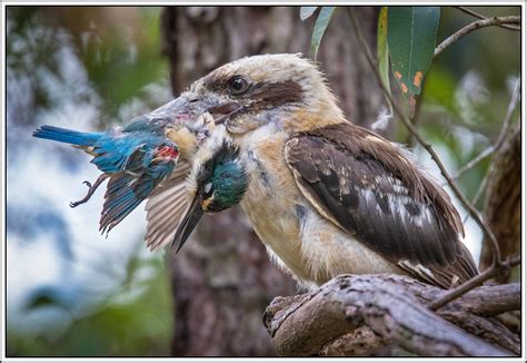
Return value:
[(156, 190), (159, 193), (163, 182), (181, 184), (185, 180), (189, 165), (186, 161), (177, 165), (180, 153), (183, 158), (189, 153), (186, 138), (178, 138), (182, 140), (178, 145), (170, 137), (175, 133), (189, 134), (198, 145), (199, 140), (208, 136), (208, 114), (192, 110), (195, 112), (176, 100), (123, 127), (84, 133), (43, 125), (33, 136), (70, 144), (93, 156), (91, 163), (102, 174), (93, 185), (83, 182), (89, 188), (87, 195), (78, 202), (71, 202), (70, 206), (74, 208), (88, 202), (96, 189), (109, 179), (99, 224), (101, 233), (109, 233), (142, 200)]

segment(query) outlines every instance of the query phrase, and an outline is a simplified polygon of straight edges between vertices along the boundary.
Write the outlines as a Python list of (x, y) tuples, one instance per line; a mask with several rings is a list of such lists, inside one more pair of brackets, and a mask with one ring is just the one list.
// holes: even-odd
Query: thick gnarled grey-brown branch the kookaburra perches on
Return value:
[(406, 276), (341, 275), (316, 292), (276, 298), (265, 323), (286, 356), (392, 355), (400, 349), (426, 356), (520, 354), (516, 334), (476, 315), (519, 308), (519, 284), (477, 287), (437, 314), (425, 307), (444, 292)]

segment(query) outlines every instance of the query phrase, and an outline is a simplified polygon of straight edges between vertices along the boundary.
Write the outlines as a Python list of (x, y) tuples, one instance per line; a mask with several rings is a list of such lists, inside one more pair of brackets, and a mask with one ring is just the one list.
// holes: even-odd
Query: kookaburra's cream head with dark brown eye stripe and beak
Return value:
[(310, 119), (317, 115), (328, 122), (342, 118), (318, 68), (300, 55), (287, 53), (246, 57), (219, 67), (157, 112), (175, 109), (189, 115), (210, 112), (231, 134), (270, 122), (302, 130), (311, 127)]

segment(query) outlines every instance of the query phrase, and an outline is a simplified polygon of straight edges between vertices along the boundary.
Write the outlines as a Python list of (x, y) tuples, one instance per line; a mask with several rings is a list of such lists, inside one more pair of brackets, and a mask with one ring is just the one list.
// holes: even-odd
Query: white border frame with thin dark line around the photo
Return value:
[[(2, 1), (2, 0), (0, 0)], [(301, 362), (305, 359), (296, 359), (296, 357), (255, 357), (255, 359), (248, 359), (248, 357), (211, 357), (211, 359), (202, 359), (202, 357), (108, 357), (108, 359), (76, 359), (76, 357), (36, 357), (36, 359), (18, 359), (18, 357), (6, 357), (6, 133), (4, 130), (7, 129), (6, 126), (6, 37), (7, 35), (4, 33), (6, 31), (6, 7), (8, 6), (149, 6), (149, 7), (162, 7), (162, 6), (320, 6), (320, 4), (335, 4), (335, 6), (382, 6), (382, 4), (392, 4), (392, 6), (407, 6), (407, 4), (430, 4), (432, 3), (434, 6), (499, 6), (499, 7), (506, 7), (506, 6), (519, 6), (521, 7), (521, 47), (523, 47), (523, 55), (521, 55), (521, 89), (525, 89), (525, 52), (526, 52), (526, 47), (525, 47), (525, 9), (526, 4), (521, 0), (517, 1), (463, 1), (463, 3), (459, 3), (459, 1), (456, 0), (448, 0), (448, 1), (391, 1), (391, 0), (386, 0), (386, 1), (235, 1), (235, 0), (223, 0), (221, 2), (219, 1), (160, 1), (160, 2), (146, 2), (146, 1), (126, 1), (126, 0), (117, 0), (117, 1), (2, 1), (1, 3), (1, 31), (2, 31), (2, 41), (1, 41), (1, 76), (0, 78), (2, 79), (2, 97), (1, 97), (1, 111), (2, 111), (2, 117), (1, 117), (1, 125), (2, 125), (2, 131), (1, 131), (1, 165), (2, 165), (2, 182), (1, 182), (1, 200), (2, 200), (2, 210), (0, 212), (0, 215), (2, 215), (2, 220), (1, 220), (1, 227), (2, 227), (2, 247), (1, 247), (1, 278), (2, 278), (2, 288), (0, 292), (1, 296), (1, 355), (0, 359), (2, 362), (34, 362), (34, 361), (41, 361), (41, 362), (57, 362), (57, 361), (79, 361), (79, 362), (92, 362), (92, 361), (98, 361), (98, 362), (103, 362), (103, 361), (111, 361), (111, 362), (151, 362), (152, 360), (155, 361), (192, 361), (192, 362), (206, 362), (206, 361), (219, 361), (219, 362), (231, 362), (231, 361), (255, 361), (255, 362), (267, 362), (269, 360), (274, 361), (290, 361), (290, 362)], [(523, 126), (525, 125), (525, 97), (521, 97), (521, 122)], [(521, 155), (523, 155), (523, 160), (525, 161), (525, 127), (521, 127)], [(523, 225), (521, 225), (521, 254), (523, 258), (525, 257), (525, 220), (526, 220), (526, 215), (525, 215), (525, 167), (521, 169), (521, 216), (523, 216)], [(525, 273), (526, 273), (526, 266), (525, 264), (521, 265), (521, 282), (525, 282)], [(525, 306), (525, 294), (526, 290), (521, 285), (521, 306)], [(525, 335), (525, 312), (523, 311), (523, 322), (521, 322), (521, 337), (523, 337), (523, 349), (521, 349), (521, 356), (520, 357), (510, 357), (510, 359), (499, 359), (499, 361), (507, 361), (507, 362), (525, 362), (526, 359), (526, 335)], [(321, 361), (322, 359), (310, 359), (310, 361)], [(342, 362), (345, 359), (339, 359), (339, 357), (327, 357), (324, 359), (324, 361), (340, 361)], [(350, 360), (350, 357), (347, 357), (346, 360)], [(357, 360), (357, 359), (355, 359)], [(361, 360), (361, 359), (359, 359)], [(388, 360), (387, 357), (365, 357), (364, 360), (367, 360), (369, 362), (380, 362), (380, 361), (386, 361)], [(428, 361), (428, 362), (435, 362), (435, 361), (446, 361), (446, 360), (451, 360), (451, 359), (420, 359), (420, 357), (390, 357), (390, 361), (395, 362), (408, 362), (408, 361)], [(467, 362), (480, 362), (480, 361), (496, 361), (498, 359), (496, 357), (464, 357), (463, 361)]]

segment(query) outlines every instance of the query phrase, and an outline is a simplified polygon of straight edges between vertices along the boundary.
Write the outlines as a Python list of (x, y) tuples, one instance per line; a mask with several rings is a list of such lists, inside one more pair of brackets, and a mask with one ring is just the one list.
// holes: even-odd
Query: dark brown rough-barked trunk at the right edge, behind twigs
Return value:
[[(517, 254), (521, 234), (521, 131), (518, 122), (496, 151), (490, 165), (484, 216), (499, 242), (501, 258)], [(485, 269), (493, 263), (493, 252), (485, 241), (479, 263)], [(508, 274), (496, 281), (507, 282)]]

